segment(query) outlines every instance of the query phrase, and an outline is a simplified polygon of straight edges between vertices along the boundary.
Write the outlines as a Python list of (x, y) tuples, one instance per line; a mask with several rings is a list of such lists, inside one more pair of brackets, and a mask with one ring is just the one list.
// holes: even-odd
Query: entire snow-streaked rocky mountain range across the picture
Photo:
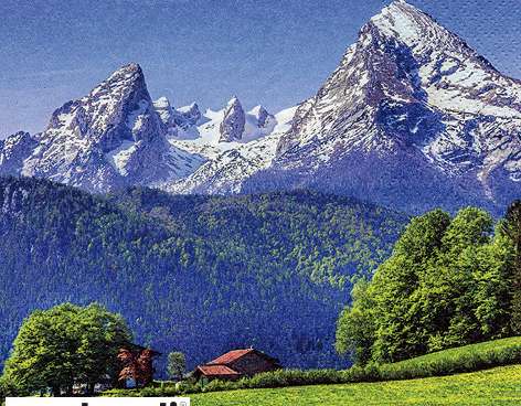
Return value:
[(41, 133), (0, 145), (0, 174), (87, 191), (312, 189), (410, 213), (521, 194), (521, 82), (405, 1), (372, 18), (316, 96), (270, 114), (152, 103), (124, 66), (57, 109)]

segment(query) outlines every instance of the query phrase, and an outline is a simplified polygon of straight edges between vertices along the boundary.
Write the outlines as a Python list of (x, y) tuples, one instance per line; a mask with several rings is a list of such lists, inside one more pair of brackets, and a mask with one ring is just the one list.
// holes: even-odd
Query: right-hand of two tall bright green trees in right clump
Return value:
[(483, 210), (460, 210), (421, 276), (414, 300), (422, 309), (427, 351), (481, 339), (476, 318), (475, 273), (479, 269), (478, 253), (490, 243), (492, 224), (492, 217)]

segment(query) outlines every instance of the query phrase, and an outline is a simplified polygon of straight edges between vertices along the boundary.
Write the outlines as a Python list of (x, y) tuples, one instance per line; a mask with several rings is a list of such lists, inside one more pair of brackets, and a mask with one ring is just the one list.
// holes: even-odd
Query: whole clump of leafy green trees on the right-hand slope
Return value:
[(337, 349), (359, 364), (396, 362), (521, 334), (521, 202), (495, 224), (466, 207), (411, 221), (372, 280), (353, 287)]

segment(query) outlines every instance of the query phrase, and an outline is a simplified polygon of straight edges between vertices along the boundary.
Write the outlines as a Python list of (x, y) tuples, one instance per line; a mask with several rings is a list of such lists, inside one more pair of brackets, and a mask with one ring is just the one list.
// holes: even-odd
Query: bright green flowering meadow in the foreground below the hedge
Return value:
[(443, 377), (190, 395), (193, 406), (521, 405), (521, 365)]

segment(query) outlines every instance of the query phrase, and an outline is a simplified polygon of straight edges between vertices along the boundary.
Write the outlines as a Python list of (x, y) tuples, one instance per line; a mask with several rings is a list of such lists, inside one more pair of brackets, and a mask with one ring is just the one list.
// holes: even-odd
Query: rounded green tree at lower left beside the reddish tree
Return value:
[(21, 394), (51, 388), (60, 396), (76, 383), (93, 391), (106, 375), (115, 377), (117, 352), (130, 339), (123, 318), (98, 304), (36, 310), (20, 328), (4, 378)]

